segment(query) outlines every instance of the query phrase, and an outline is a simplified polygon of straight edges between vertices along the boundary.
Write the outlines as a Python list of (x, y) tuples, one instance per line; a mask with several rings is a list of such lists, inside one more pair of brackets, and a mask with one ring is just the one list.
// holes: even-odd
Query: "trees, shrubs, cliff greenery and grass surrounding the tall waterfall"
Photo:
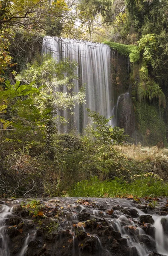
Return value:
[[(67, 122), (60, 110), (83, 103), (85, 92), (71, 93), (75, 62), (41, 56), (45, 35), (116, 52), (113, 87), (129, 89), (132, 138), (90, 110), (96, 126), (58, 134)], [(167, 0), (1, 0), (0, 196), (167, 195), (167, 70)], [(53, 95), (59, 86), (69, 93)]]

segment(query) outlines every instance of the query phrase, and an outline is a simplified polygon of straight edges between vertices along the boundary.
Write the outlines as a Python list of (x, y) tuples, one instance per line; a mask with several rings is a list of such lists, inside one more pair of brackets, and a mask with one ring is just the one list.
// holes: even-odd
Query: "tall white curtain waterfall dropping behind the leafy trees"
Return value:
[[(63, 39), (45, 36), (42, 53), (51, 53), (57, 61), (68, 58), (75, 60), (78, 67), (75, 71), (79, 79), (75, 80), (73, 91), (78, 93), (81, 86), (86, 88), (86, 104), (76, 105), (74, 116), (67, 112), (60, 113), (69, 121), (68, 127), (61, 132), (75, 128), (82, 132), (89, 122), (86, 108), (109, 118), (112, 115), (113, 90), (110, 82), (110, 47), (105, 44)], [(64, 88), (66, 92), (66, 88)]]

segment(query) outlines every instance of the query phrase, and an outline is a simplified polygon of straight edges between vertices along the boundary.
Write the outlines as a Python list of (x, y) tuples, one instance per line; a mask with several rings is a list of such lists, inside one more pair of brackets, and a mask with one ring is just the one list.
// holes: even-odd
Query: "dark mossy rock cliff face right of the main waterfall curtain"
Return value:
[[(129, 58), (113, 49), (111, 80), (114, 90), (114, 124), (124, 128), (134, 143), (159, 147), (167, 145), (167, 108), (160, 106), (157, 99), (153, 102), (147, 99), (139, 101), (136, 87), (140, 80), (138, 64), (130, 64)], [(163, 91), (165, 93), (166, 88)]]

